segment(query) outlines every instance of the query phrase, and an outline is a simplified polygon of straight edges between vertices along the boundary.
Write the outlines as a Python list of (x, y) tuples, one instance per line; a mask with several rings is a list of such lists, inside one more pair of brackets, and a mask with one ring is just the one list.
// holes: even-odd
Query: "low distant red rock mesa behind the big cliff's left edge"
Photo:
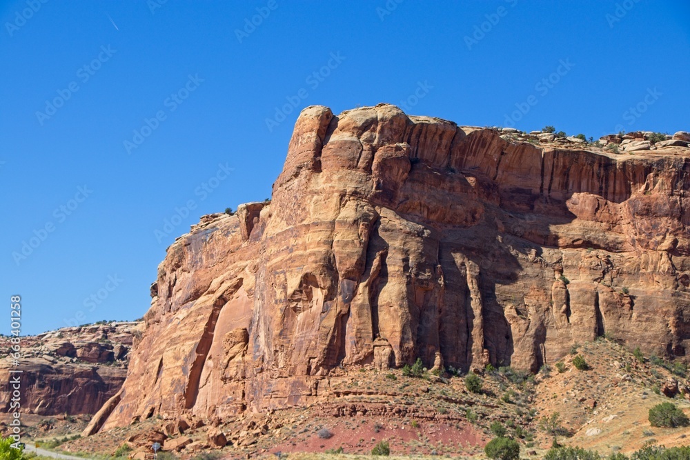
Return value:
[[(128, 351), (139, 322), (114, 322), (62, 328), (21, 337), (22, 358), (12, 366), (0, 359), (0, 379), (21, 370), (21, 408), (40, 415), (95, 414), (121, 388), (127, 374)], [(0, 337), (3, 352), (10, 337)], [(0, 407), (10, 407), (8, 385), (0, 388)]]

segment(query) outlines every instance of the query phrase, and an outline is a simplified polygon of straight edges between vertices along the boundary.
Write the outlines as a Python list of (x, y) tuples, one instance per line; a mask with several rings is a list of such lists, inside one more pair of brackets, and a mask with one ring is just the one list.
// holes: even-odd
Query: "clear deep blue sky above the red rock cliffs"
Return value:
[(175, 237), (270, 195), (306, 106), (690, 130), (687, 1), (43, 1), (0, 3), (0, 293), (25, 334), (141, 317)]

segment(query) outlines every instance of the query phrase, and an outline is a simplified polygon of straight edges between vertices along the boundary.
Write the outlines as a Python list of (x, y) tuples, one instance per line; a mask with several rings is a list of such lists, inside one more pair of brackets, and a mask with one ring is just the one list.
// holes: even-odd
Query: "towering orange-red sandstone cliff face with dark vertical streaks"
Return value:
[(306, 108), (270, 204), (205, 216), (168, 248), (126, 383), (91, 431), (304, 405), (340, 366), (437, 354), (536, 370), (607, 334), (684, 359), (690, 154), (663, 152)]

